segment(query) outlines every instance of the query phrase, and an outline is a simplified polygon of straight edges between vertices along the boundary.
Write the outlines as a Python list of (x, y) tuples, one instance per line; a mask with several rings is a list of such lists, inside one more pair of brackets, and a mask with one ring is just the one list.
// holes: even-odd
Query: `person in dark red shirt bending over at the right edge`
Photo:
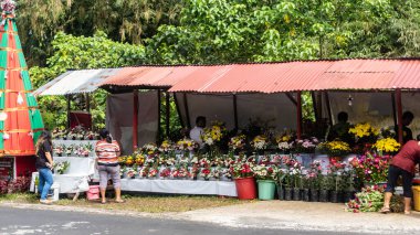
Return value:
[(388, 213), (389, 203), (395, 192), (398, 178), (402, 177), (402, 188), (405, 196), (405, 213), (411, 212), (411, 199), (412, 199), (412, 179), (416, 174), (416, 164), (420, 162), (420, 141), (408, 141), (399, 153), (392, 158), (392, 161), (388, 170), (387, 189), (385, 190), (384, 207), (381, 213)]

